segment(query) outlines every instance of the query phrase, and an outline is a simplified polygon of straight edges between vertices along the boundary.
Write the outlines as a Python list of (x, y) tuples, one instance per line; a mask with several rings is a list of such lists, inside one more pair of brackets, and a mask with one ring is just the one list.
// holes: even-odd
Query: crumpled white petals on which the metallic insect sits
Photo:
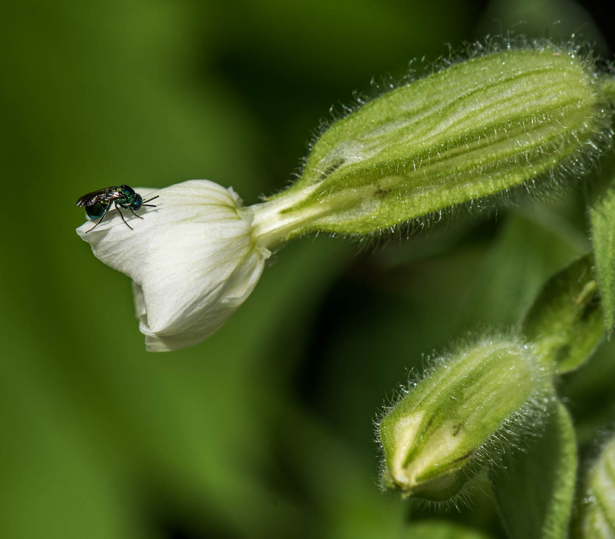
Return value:
[(155, 208), (138, 212), (143, 219), (122, 210), (133, 230), (113, 209), (95, 229), (88, 221), (77, 234), (132, 279), (148, 350), (197, 344), (250, 295), (271, 252), (254, 234), (252, 209), (230, 187), (190, 180), (135, 191), (158, 198)]

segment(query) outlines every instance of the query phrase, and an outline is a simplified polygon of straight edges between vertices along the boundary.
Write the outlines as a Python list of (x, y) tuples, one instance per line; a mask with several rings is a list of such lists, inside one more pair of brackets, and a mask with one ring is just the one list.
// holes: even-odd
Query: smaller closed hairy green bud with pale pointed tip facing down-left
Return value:
[(503, 442), (538, 430), (550, 395), (549, 369), (515, 339), (483, 339), (438, 360), (379, 422), (383, 487), (453, 497)]

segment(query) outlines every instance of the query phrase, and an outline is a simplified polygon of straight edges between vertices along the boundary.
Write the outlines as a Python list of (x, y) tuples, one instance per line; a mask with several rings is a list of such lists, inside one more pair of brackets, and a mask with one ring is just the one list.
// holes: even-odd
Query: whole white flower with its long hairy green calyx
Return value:
[[(148, 350), (213, 334), (250, 294), (270, 250), (291, 238), (379, 235), (514, 192), (541, 194), (541, 178), (548, 192), (564, 173), (590, 170), (613, 138), (615, 77), (578, 45), (504, 45), (334, 122), (300, 178), (265, 202), (244, 207), (232, 189), (192, 180), (137, 189), (158, 198), (140, 210), (143, 221), (125, 212), (135, 230), (115, 204), (95, 229), (79, 227), (101, 261), (134, 281)], [(90, 216), (104, 209), (90, 205)]]

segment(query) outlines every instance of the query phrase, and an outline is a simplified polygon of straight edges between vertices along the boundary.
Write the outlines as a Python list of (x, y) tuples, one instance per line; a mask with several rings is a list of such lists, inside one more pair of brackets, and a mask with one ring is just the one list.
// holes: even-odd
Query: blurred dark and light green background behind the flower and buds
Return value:
[[(378, 489), (373, 420), (467, 331), (506, 331), (587, 250), (583, 184), (363, 250), (280, 252), (211, 339), (146, 353), (129, 280), (74, 228), (111, 184), (284, 187), (331, 104), (515, 27), (613, 35), (573, 2), (24, 1), (2, 31), (2, 538), (500, 537), (488, 487), (431, 513)], [(519, 21), (525, 21), (518, 25)], [(585, 183), (589, 181), (586, 180)], [(613, 344), (563, 380), (584, 443)], [(447, 524), (448, 523), (448, 524)]]

